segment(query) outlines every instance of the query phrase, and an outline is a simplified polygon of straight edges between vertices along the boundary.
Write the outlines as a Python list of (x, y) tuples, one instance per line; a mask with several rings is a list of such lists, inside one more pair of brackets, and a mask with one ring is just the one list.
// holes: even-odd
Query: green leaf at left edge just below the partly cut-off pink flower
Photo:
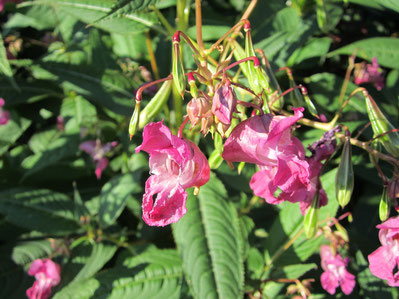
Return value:
[(30, 120), (20, 118), (16, 113), (11, 113), (10, 116), (8, 123), (0, 126), (0, 155), (6, 152), (10, 146), (15, 145), (15, 141), (31, 124)]

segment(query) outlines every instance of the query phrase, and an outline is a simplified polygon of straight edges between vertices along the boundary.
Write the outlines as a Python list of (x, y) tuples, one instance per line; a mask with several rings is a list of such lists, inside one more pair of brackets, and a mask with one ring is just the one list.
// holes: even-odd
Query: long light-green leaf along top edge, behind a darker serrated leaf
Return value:
[(154, 13), (126, 13), (117, 18), (105, 19), (95, 23), (111, 12), (115, 1), (112, 0), (38, 0), (21, 4), (20, 6), (30, 5), (49, 5), (56, 11), (71, 14), (84, 23), (92, 24), (105, 31), (129, 34), (143, 32), (148, 28), (164, 32), (158, 26), (157, 17)]

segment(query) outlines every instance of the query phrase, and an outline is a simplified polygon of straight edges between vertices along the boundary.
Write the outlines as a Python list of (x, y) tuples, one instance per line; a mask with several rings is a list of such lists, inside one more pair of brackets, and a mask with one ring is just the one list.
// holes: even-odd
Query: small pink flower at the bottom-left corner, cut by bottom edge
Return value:
[(26, 290), (29, 299), (47, 299), (51, 296), (51, 287), (61, 281), (60, 266), (49, 259), (38, 259), (31, 264), (28, 274), (35, 276), (33, 286)]

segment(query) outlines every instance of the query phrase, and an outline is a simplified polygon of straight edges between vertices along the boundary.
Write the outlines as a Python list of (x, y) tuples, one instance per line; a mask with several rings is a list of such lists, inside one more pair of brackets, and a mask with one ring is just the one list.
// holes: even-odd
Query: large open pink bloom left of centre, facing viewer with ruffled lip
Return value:
[(150, 154), (152, 174), (145, 184), (143, 220), (152, 226), (177, 222), (187, 211), (185, 189), (208, 182), (208, 161), (197, 145), (172, 135), (162, 122), (144, 128), (143, 143), (136, 153), (141, 150)]

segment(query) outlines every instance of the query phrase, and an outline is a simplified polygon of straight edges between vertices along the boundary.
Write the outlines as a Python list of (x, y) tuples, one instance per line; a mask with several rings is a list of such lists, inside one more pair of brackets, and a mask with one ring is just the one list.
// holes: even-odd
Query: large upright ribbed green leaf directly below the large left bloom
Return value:
[(187, 282), (195, 298), (241, 298), (241, 233), (223, 184), (212, 175), (198, 198), (189, 192), (187, 214), (173, 225)]

